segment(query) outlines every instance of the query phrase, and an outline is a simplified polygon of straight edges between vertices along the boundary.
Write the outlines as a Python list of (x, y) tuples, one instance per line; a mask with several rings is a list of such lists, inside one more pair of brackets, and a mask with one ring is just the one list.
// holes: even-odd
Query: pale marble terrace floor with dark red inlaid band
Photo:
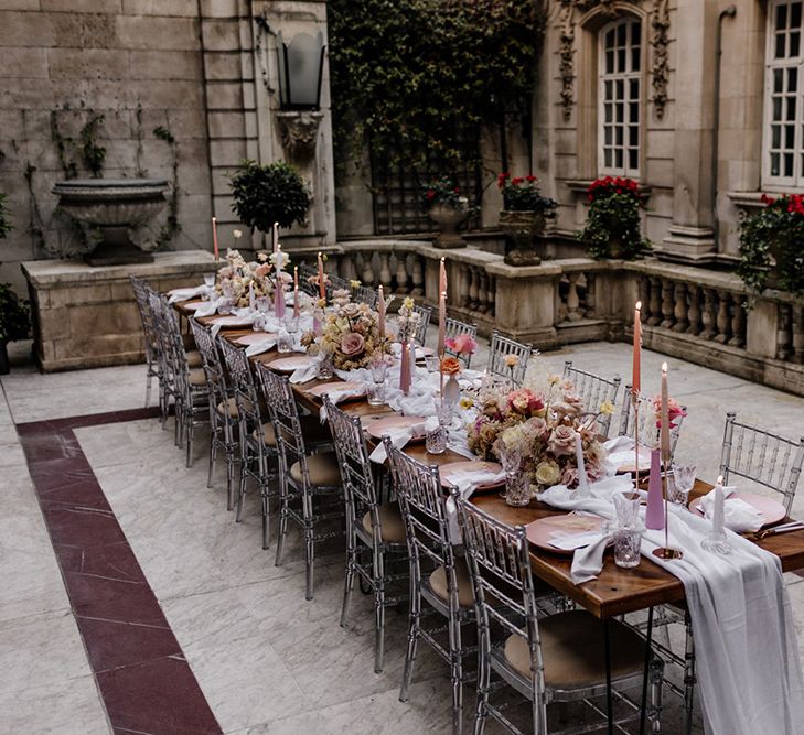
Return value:
[[(601, 375), (630, 370), (626, 345), (545, 358), (557, 369), (572, 359)], [(664, 359), (645, 353), (646, 390)], [(802, 399), (668, 363), (671, 393), (689, 411), (678, 455), (695, 457), (705, 479), (717, 475), (727, 410), (804, 435)], [(0, 733), (449, 732), (446, 666), (426, 646), (409, 701), (398, 701), (405, 612), (388, 615), (375, 674), (369, 598), (356, 593), (339, 626), (342, 549), (318, 556), (315, 598), (304, 601), (298, 534), (275, 566), (254, 495), (235, 525), (224, 473), (206, 488), (203, 431), (187, 469), (172, 420), (163, 431), (142, 408), (141, 366), (49, 376), (21, 367), (1, 385)], [(791, 595), (804, 640), (804, 585)], [(680, 732), (669, 695), (664, 725)]]

